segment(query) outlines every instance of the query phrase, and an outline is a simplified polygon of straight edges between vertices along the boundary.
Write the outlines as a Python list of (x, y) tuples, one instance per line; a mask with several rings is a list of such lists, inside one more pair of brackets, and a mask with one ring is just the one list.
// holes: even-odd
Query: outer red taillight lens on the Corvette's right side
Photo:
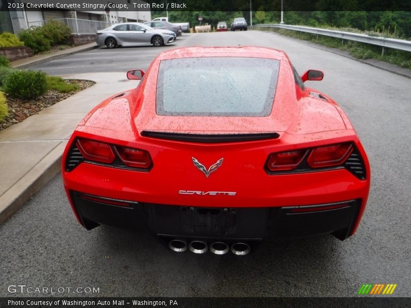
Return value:
[(338, 166), (351, 154), (353, 146), (348, 143), (334, 144), (314, 148), (307, 158), (311, 168)]

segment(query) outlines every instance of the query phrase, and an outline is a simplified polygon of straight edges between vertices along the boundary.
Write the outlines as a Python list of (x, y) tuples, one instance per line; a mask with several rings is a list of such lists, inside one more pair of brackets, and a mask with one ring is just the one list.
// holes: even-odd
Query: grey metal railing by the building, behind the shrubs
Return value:
[[(56, 18), (55, 21), (67, 25), (71, 29), (71, 34), (96, 34), (98, 30), (111, 26), (111, 23), (80, 20), (76, 18)], [(41, 27), (48, 21), (30, 22), (29, 27)]]

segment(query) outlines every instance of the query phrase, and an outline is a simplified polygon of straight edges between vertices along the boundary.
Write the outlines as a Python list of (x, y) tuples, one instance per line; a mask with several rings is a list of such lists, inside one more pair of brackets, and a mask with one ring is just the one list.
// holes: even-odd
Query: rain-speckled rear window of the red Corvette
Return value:
[(165, 60), (157, 81), (159, 115), (266, 117), (279, 61), (254, 57)]

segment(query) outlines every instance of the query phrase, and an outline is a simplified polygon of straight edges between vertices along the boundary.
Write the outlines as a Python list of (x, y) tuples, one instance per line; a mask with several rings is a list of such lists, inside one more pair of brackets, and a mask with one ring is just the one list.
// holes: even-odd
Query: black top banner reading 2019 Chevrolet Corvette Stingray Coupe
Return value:
[(409, 0), (2, 0), (0, 10), (411, 11)]

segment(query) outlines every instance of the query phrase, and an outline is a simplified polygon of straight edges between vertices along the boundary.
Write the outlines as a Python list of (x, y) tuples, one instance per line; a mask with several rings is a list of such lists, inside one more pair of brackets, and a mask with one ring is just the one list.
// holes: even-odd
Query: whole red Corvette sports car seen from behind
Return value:
[(271, 239), (356, 232), (370, 168), (342, 109), (304, 85), (321, 71), (300, 77), (270, 48), (190, 47), (127, 76), (139, 85), (95, 107), (64, 152), (84, 227), (237, 255)]

